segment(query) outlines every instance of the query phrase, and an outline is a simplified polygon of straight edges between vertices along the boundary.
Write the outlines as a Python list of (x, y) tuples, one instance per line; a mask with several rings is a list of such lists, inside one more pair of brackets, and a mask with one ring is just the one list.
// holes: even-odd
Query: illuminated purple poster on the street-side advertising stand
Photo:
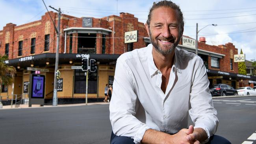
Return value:
[(44, 98), (44, 77), (33, 76), (32, 98)]

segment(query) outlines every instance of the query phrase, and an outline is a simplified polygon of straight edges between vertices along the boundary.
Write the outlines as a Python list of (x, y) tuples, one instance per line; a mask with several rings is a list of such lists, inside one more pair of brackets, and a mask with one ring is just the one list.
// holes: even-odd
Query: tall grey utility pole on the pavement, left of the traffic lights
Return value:
[(55, 70), (54, 70), (54, 93), (52, 98), (52, 106), (58, 105), (58, 97), (57, 97), (57, 76), (56, 72), (58, 70), (59, 66), (59, 33), (60, 33), (60, 15), (61, 11), (60, 8), (58, 10), (58, 31), (57, 32), (57, 46), (56, 46), (56, 60), (55, 60)]

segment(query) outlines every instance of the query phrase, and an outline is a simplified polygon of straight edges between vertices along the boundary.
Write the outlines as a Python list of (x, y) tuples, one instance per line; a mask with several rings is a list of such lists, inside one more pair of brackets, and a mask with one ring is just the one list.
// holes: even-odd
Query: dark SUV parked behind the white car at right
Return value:
[(237, 90), (226, 84), (213, 85), (211, 88), (211, 96), (237, 96)]

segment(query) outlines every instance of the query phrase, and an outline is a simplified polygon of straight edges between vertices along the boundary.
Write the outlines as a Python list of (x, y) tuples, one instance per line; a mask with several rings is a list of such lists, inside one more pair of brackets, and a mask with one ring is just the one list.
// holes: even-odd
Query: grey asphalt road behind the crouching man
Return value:
[[(213, 102), (219, 118), (217, 135), (232, 144), (256, 144), (256, 140), (247, 140), (256, 131), (256, 97)], [(1, 109), (0, 144), (109, 144), (108, 106)]]

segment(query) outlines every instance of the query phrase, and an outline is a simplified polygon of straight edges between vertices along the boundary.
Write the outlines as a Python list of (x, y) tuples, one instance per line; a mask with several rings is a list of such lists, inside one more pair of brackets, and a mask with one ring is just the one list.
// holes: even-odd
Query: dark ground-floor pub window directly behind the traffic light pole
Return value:
[[(75, 70), (75, 83), (74, 83), (74, 93), (84, 94), (86, 91), (86, 76), (85, 72), (76, 69)], [(88, 94), (97, 93), (97, 70), (95, 72), (89, 72), (88, 74)]]

